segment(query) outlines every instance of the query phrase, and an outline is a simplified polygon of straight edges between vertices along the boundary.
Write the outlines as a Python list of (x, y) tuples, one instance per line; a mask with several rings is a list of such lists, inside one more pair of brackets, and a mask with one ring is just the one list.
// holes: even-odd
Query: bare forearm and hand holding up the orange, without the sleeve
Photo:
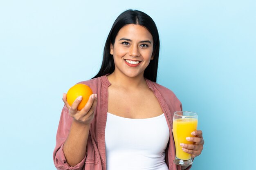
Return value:
[(82, 98), (78, 97), (70, 106), (67, 103), (67, 94), (63, 94), (63, 102), (69, 110), (69, 115), (73, 117), (70, 132), (63, 146), (64, 155), (70, 166), (76, 166), (85, 157), (90, 122), (97, 105), (97, 94), (92, 94), (85, 107), (79, 111), (77, 107), (81, 100)]

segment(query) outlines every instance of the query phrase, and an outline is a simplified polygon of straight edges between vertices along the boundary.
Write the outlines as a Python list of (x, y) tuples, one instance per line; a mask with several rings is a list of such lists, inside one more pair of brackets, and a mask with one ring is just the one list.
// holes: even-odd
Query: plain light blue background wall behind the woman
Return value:
[(193, 170), (255, 168), (254, 0), (0, 2), (0, 169), (54, 170), (62, 93), (99, 70), (126, 9), (159, 29), (159, 84), (199, 114), (204, 150)]

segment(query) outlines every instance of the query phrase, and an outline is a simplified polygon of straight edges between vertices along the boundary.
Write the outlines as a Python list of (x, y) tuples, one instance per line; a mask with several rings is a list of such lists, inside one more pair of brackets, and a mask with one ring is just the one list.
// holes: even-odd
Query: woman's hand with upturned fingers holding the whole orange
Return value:
[(97, 94), (90, 95), (88, 102), (80, 111), (77, 110), (77, 107), (82, 100), (82, 96), (77, 97), (71, 106), (67, 103), (66, 93), (63, 93), (62, 100), (69, 110), (69, 115), (73, 117), (75, 121), (85, 125), (90, 124), (94, 118), (94, 109), (97, 106)]

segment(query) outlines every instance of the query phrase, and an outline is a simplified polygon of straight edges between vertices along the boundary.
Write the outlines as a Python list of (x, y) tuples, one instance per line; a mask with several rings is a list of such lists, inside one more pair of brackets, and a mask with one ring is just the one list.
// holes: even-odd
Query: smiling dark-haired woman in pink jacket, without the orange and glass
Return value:
[[(176, 166), (173, 113), (182, 106), (172, 91), (156, 83), (159, 35), (141, 11), (121, 13), (110, 30), (99, 73), (84, 82), (95, 94), (79, 111), (63, 94), (54, 164), (58, 170), (181, 170)], [(204, 140), (196, 130), (181, 144), (194, 158)]]

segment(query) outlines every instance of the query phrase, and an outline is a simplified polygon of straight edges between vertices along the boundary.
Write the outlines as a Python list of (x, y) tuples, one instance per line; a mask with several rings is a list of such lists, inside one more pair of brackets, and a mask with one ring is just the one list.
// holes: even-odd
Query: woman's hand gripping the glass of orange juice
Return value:
[(194, 137), (186, 137), (187, 141), (193, 141), (194, 144), (183, 144), (181, 143), (182, 150), (186, 153), (191, 154), (191, 157), (197, 157), (201, 154), (204, 145), (203, 133), (202, 130), (195, 130), (191, 132), (191, 135)]

